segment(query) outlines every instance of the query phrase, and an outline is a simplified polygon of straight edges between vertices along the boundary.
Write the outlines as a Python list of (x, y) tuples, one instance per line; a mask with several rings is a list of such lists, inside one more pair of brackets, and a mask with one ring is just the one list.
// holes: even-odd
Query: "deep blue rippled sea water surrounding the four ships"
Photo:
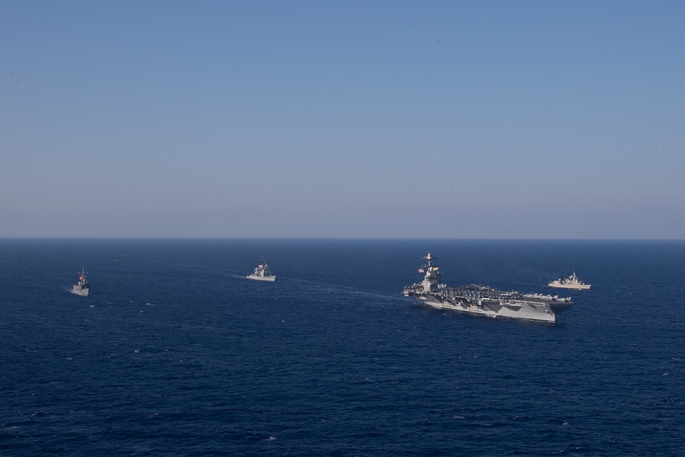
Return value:
[[(421, 306), (427, 250), (575, 306)], [(684, 280), (685, 241), (0, 240), (0, 454), (682, 456)]]

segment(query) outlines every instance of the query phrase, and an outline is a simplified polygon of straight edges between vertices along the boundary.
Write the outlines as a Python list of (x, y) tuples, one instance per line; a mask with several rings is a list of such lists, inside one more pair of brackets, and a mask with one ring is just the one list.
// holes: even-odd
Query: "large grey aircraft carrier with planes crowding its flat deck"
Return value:
[(423, 282), (406, 286), (402, 295), (416, 297), (434, 308), (483, 314), (488, 317), (555, 322), (557, 314), (573, 306), (571, 297), (497, 291), (480, 284), (447, 287), (443, 284), (443, 275), (438, 265), (434, 264), (437, 257), (429, 252), (423, 260), (426, 264), (419, 268), (419, 273), (425, 273)]

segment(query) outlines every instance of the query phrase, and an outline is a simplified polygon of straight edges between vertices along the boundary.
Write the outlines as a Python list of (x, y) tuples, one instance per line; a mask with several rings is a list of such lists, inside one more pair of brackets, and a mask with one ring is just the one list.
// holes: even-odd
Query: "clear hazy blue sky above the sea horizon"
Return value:
[(685, 238), (685, 2), (0, 1), (0, 237)]

